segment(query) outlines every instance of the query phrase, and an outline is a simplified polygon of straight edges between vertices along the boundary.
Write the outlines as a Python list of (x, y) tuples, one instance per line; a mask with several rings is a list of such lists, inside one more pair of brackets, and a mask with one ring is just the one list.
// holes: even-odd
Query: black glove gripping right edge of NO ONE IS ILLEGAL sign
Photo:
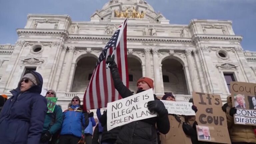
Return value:
[(149, 101), (148, 109), (150, 112), (152, 111), (157, 112), (160, 117), (164, 115), (168, 115), (168, 111), (165, 108), (164, 103), (160, 100)]

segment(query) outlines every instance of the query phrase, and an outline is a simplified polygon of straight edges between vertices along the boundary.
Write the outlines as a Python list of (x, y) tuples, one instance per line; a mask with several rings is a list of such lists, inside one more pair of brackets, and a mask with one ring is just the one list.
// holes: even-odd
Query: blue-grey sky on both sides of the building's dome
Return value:
[[(89, 21), (109, 0), (0, 0), (0, 44), (15, 44), (16, 28), (24, 28), (27, 14), (67, 14), (73, 21)], [(256, 0), (147, 0), (170, 24), (191, 19), (232, 20), (242, 35), (244, 50), (256, 51)]]

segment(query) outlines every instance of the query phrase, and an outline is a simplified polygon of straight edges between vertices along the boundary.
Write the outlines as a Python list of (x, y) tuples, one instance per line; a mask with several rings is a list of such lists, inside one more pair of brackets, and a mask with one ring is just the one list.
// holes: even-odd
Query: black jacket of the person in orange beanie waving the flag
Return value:
[[(123, 84), (116, 64), (110, 67), (115, 89), (119, 92), (122, 98), (129, 97), (133, 93)], [(154, 95), (155, 100), (159, 100)], [(157, 134), (156, 127), (160, 133), (166, 134), (170, 130), (168, 112), (162, 117), (153, 117), (140, 121), (131, 122), (122, 126), (119, 132), (117, 144), (156, 144)]]

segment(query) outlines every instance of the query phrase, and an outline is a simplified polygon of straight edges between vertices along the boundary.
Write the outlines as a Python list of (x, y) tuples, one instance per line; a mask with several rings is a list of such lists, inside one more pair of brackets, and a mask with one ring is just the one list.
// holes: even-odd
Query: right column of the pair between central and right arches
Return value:
[(158, 57), (158, 49), (154, 48), (153, 50), (153, 65), (154, 65), (154, 83), (155, 83), (155, 92), (156, 93), (163, 93), (161, 91), (161, 77), (159, 71), (159, 57)]

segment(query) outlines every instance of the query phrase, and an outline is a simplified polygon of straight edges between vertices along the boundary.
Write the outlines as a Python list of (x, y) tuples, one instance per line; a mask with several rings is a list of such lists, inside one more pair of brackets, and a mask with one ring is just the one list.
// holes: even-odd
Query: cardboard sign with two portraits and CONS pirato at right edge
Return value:
[(232, 106), (237, 109), (234, 123), (256, 125), (256, 84), (231, 82)]

